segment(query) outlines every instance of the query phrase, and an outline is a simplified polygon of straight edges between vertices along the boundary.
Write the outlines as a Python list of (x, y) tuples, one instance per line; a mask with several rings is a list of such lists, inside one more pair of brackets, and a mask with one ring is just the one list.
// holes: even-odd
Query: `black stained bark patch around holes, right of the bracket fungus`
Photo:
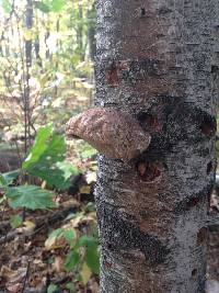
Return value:
[[(162, 102), (159, 103), (159, 101)], [(150, 121), (154, 113), (159, 117), (161, 131), (153, 131), (151, 127)], [(191, 103), (185, 103), (176, 97), (159, 97), (146, 113), (141, 111), (137, 114), (137, 119), (141, 127), (151, 134), (151, 143), (146, 151), (146, 157), (148, 154), (163, 157), (181, 142), (188, 145), (203, 143), (205, 139), (214, 137), (217, 129), (217, 121), (214, 115)]]

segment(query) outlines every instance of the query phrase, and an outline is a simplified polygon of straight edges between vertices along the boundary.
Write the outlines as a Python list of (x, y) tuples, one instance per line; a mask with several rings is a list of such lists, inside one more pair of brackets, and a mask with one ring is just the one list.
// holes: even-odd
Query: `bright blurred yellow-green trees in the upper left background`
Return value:
[(92, 104), (93, 0), (0, 1), (0, 129), (27, 138)]

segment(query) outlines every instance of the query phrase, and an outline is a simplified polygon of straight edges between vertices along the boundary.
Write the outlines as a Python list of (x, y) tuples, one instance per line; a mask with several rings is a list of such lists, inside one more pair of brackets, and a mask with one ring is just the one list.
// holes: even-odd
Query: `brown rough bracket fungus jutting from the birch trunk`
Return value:
[(130, 114), (112, 108), (93, 108), (73, 116), (67, 123), (66, 133), (124, 162), (146, 150), (151, 139)]

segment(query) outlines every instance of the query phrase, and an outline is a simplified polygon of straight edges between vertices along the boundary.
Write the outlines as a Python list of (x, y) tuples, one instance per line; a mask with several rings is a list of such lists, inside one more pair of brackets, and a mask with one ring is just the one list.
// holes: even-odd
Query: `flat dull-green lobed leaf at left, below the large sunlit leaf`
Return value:
[(53, 193), (36, 185), (8, 188), (5, 196), (12, 207), (36, 210), (57, 206), (53, 201)]

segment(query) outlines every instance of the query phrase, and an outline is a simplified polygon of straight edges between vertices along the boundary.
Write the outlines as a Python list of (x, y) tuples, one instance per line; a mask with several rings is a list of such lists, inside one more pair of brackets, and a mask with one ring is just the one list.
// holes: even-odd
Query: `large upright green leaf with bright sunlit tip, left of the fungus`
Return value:
[(70, 187), (70, 177), (78, 169), (64, 161), (66, 143), (64, 135), (54, 132), (51, 124), (42, 127), (22, 168), (30, 174), (41, 178), (51, 188), (59, 190)]

